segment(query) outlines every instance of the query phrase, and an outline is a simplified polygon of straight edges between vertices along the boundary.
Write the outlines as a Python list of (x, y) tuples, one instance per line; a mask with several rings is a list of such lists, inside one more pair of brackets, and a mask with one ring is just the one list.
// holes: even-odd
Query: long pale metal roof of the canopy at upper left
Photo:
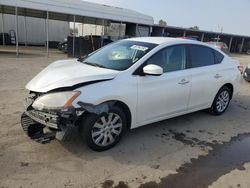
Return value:
[(0, 13), (49, 18), (63, 21), (101, 24), (102, 19), (142, 25), (153, 25), (153, 17), (124, 8), (112, 7), (81, 0), (0, 0)]

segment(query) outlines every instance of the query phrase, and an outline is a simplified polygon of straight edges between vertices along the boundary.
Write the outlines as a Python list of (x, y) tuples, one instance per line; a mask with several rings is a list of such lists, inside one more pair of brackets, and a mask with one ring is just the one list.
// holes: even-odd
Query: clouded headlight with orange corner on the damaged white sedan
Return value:
[(81, 94), (80, 91), (69, 91), (60, 93), (51, 93), (39, 97), (32, 104), (36, 110), (58, 110), (72, 106), (72, 102)]

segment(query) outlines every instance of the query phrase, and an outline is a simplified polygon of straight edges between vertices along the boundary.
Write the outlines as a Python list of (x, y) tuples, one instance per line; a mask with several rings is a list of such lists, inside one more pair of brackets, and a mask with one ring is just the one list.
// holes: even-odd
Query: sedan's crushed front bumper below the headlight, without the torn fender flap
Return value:
[(25, 105), (25, 112), (21, 116), (24, 132), (39, 143), (46, 144), (51, 140), (67, 139), (71, 130), (76, 127), (83, 110), (74, 108), (58, 111), (39, 111), (30, 105)]

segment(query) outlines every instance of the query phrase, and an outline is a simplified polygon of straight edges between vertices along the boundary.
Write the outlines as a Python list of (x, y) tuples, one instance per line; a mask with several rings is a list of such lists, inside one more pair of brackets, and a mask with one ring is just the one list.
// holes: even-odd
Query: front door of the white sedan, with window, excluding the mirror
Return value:
[(161, 76), (138, 76), (137, 123), (149, 123), (187, 110), (192, 77), (186, 69), (186, 46), (167, 47), (145, 65), (163, 68)]

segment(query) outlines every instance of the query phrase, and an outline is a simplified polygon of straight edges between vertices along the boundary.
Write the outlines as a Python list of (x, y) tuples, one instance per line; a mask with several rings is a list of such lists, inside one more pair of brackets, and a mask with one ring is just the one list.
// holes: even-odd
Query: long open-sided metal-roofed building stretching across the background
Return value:
[[(229, 46), (231, 52), (244, 53), (250, 49), (249, 36), (162, 27), (154, 25), (152, 16), (81, 0), (0, 0), (0, 14), (0, 43), (3, 46), (5, 44), (5, 35), (2, 33), (11, 31), (17, 36), (17, 56), (20, 44), (45, 45), (48, 54), (50, 42), (61, 42), (72, 33), (77, 33), (72, 39), (73, 54), (74, 38), (86, 35), (109, 35), (112, 40), (144, 36), (191, 36), (204, 42), (217, 37)], [(70, 25), (73, 28), (70, 29)]]

